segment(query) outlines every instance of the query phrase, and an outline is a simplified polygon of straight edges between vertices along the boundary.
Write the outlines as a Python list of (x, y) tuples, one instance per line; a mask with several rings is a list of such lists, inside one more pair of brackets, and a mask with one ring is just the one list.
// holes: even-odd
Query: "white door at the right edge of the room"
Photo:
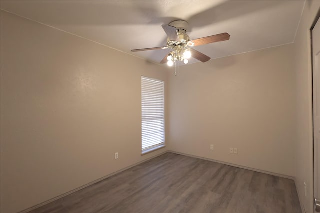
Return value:
[(320, 21), (312, 30), (315, 212), (320, 212)]

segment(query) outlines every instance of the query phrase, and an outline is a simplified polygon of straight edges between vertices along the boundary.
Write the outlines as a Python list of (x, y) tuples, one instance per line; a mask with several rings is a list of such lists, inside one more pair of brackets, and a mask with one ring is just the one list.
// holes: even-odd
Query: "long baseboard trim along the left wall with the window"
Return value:
[(152, 159), (152, 158), (156, 158), (156, 157), (158, 157), (158, 156), (160, 156), (160, 155), (163, 155), (163, 154), (165, 154), (165, 153), (167, 153), (167, 152), (168, 152), (168, 151), (166, 150), (166, 151), (161, 152), (161, 153), (159, 153), (159, 154), (157, 154), (157, 155), (154, 155), (154, 156), (152, 156), (152, 157), (150, 157), (150, 158), (147, 158), (147, 159), (144, 159), (144, 160), (142, 160), (142, 161), (139, 161), (139, 162), (137, 162), (137, 163), (135, 163), (135, 164), (132, 164), (132, 165), (130, 165), (130, 166), (127, 166), (127, 167), (125, 167), (125, 168), (123, 168), (123, 169), (120, 169), (120, 170), (118, 170), (118, 171), (116, 171), (116, 172), (110, 173), (110, 174), (108, 174), (108, 175), (106, 175), (106, 176), (103, 176), (103, 177), (101, 177), (101, 178), (99, 178), (99, 179), (96, 179), (96, 180), (94, 180), (94, 181), (91, 181), (90, 183), (87, 183), (87, 184), (85, 184), (85, 185), (83, 185), (83, 186), (80, 186), (80, 187), (78, 187), (78, 188), (76, 188), (76, 189), (74, 189), (74, 190), (71, 190), (71, 191), (69, 191), (69, 192), (63, 193), (63, 194), (61, 194), (61, 195), (59, 195), (59, 196), (56, 196), (56, 197), (54, 197), (54, 198), (51, 198), (51, 199), (49, 199), (49, 200), (47, 200), (47, 201), (44, 201), (44, 202), (42, 202), (42, 203), (40, 203), (40, 204), (34, 205), (34, 206), (32, 206), (32, 207), (30, 207), (30, 208), (27, 208), (27, 209), (25, 209), (25, 210), (22, 210), (22, 211), (20, 211), (20, 212), (18, 212), (18, 213), (27, 213), (27, 212), (29, 212), (29, 211), (35, 210), (36, 208), (39, 208), (39, 207), (41, 207), (41, 206), (44, 206), (44, 205), (46, 205), (46, 204), (48, 204), (48, 203), (51, 203), (51, 202), (53, 202), (53, 201), (56, 201), (56, 200), (58, 200), (58, 199), (60, 199), (60, 198), (62, 198), (62, 197), (64, 197), (64, 196), (70, 195), (70, 194), (72, 194), (72, 193), (74, 193), (74, 192), (76, 192), (76, 191), (79, 191), (79, 190), (81, 190), (81, 189), (83, 189), (83, 188), (85, 188), (85, 187), (88, 187), (88, 186), (90, 186), (90, 185), (92, 185), (92, 184), (95, 184), (95, 183), (97, 183), (97, 182), (99, 182), (99, 181), (102, 181), (102, 180), (104, 180), (104, 179), (106, 179), (106, 178), (109, 178), (109, 177), (111, 177), (112, 175), (115, 175), (115, 174), (117, 174), (117, 173), (123, 172), (124, 170), (130, 169), (131, 167), (134, 167), (134, 166), (136, 166), (136, 165), (138, 165), (138, 164), (141, 164), (141, 163), (143, 163), (143, 162), (145, 162), (145, 161), (148, 161), (148, 160), (150, 160), (150, 159)]

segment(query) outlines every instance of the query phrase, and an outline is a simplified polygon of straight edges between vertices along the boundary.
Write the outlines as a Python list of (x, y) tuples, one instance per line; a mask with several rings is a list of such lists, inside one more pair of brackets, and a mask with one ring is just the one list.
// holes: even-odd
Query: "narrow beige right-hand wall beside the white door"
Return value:
[[(313, 213), (312, 72), (310, 28), (320, 1), (306, 1), (294, 43), (296, 75), (296, 186), (302, 208)], [(307, 195), (304, 194), (304, 183)]]

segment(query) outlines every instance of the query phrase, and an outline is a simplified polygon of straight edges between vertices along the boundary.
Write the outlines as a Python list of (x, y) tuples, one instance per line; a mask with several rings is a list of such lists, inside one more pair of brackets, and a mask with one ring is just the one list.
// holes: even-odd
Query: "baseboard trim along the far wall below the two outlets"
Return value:
[(176, 151), (172, 151), (172, 150), (168, 150), (168, 152), (179, 154), (179, 155), (185, 155), (185, 156), (189, 156), (189, 157), (193, 157), (193, 158), (199, 158), (199, 159), (203, 159), (203, 160), (207, 160), (207, 161), (213, 161), (213, 162), (220, 163), (220, 164), (226, 164), (226, 165), (233, 166), (233, 167), (239, 167), (239, 168), (242, 168), (242, 169), (252, 170), (252, 171), (255, 171), (255, 172), (261, 172), (261, 173), (265, 173), (265, 174), (269, 174), (269, 175), (274, 175), (274, 176), (278, 176), (278, 177), (288, 178), (288, 179), (294, 180), (294, 177), (288, 176), (288, 175), (283, 175), (283, 174), (279, 174), (279, 173), (274, 173), (274, 172), (255, 169), (255, 168), (251, 168), (251, 167), (241, 166), (241, 165), (238, 165), (238, 164), (232, 164), (232, 163), (228, 163), (228, 162), (224, 162), (224, 161), (214, 160), (214, 159), (211, 159), (211, 158), (205, 158), (205, 157), (201, 157), (201, 156), (190, 155), (190, 154), (186, 154), (186, 153), (182, 153), (182, 152), (176, 152)]

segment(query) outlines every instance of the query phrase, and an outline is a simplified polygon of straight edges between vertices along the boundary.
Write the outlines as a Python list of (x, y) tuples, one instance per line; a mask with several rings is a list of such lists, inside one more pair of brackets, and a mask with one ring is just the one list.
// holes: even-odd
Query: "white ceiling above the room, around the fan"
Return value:
[[(159, 62), (169, 50), (161, 24), (189, 23), (190, 39), (228, 32), (228, 41), (194, 47), (211, 58), (294, 42), (304, 0), (3, 1), (1, 9)], [(192, 59), (190, 63), (198, 62)]]

